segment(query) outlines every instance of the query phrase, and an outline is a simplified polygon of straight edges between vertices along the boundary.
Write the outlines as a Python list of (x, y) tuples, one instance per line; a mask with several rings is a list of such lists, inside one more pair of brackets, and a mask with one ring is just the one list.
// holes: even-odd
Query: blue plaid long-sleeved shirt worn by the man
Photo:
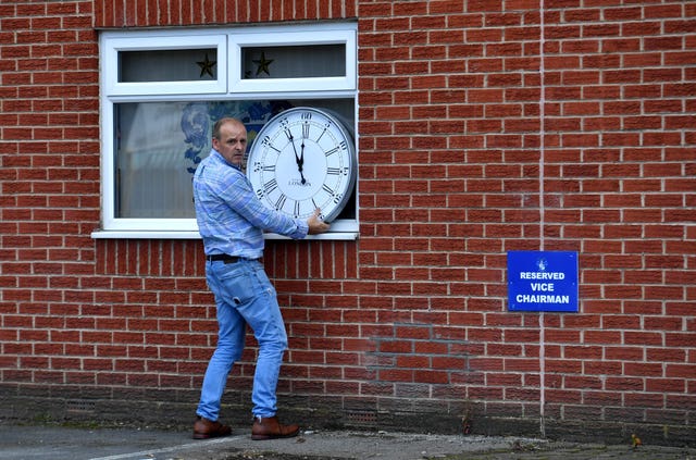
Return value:
[(263, 256), (263, 231), (304, 238), (307, 222), (268, 209), (247, 176), (212, 149), (194, 175), (194, 203), (206, 256)]

